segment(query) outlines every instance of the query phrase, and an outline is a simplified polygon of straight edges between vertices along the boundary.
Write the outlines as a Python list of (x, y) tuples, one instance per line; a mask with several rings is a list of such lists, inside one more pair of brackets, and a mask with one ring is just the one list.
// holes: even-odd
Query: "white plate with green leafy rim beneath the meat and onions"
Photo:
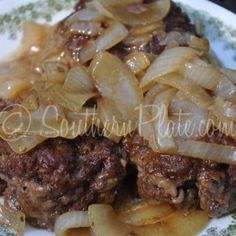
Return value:
[[(213, 52), (229, 68), (236, 69), (236, 15), (207, 0), (175, 0), (210, 40)], [(76, 0), (0, 0), (0, 60), (20, 44), (25, 20), (54, 23), (72, 11)], [(43, 204), (43, 203), (42, 203)], [(26, 236), (53, 233), (27, 228)], [(212, 220), (201, 236), (236, 235), (236, 214)], [(185, 236), (185, 235), (183, 235)]]

